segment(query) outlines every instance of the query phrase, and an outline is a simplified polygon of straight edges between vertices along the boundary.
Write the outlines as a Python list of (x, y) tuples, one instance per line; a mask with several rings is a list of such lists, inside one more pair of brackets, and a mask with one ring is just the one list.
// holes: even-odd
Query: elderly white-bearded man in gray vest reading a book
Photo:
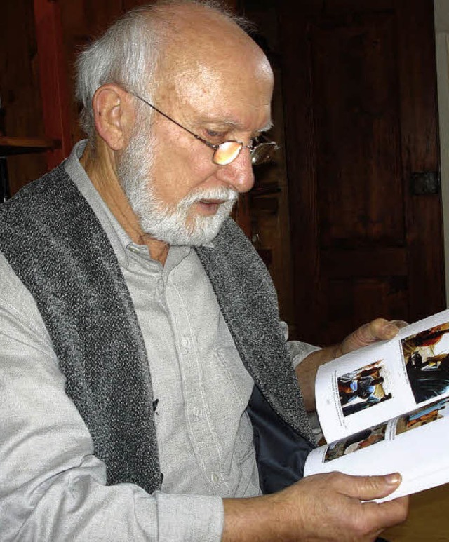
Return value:
[[(372, 540), (385, 477), (300, 480), (319, 363), (228, 217), (272, 70), (218, 8), (128, 13), (79, 60), (88, 141), (0, 210), (1, 540)], [(300, 480), (300, 481), (298, 481)], [(363, 501), (363, 502), (362, 502)]]

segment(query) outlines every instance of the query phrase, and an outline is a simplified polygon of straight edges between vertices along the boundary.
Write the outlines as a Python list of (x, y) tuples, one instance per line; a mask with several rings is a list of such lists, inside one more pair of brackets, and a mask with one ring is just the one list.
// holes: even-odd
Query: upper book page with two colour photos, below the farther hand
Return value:
[(449, 311), (319, 367), (316, 410), (327, 442), (449, 395)]

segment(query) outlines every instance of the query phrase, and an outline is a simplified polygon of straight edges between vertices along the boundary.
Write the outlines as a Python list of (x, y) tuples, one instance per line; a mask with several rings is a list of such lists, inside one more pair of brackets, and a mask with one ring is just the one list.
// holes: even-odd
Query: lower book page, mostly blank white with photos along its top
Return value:
[(449, 398), (314, 449), (304, 476), (338, 470), (352, 475), (399, 472), (389, 500), (449, 482)]

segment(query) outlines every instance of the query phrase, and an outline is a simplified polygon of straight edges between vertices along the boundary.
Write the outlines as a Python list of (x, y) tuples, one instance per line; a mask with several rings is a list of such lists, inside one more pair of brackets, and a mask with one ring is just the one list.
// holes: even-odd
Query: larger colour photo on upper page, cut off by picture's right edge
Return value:
[(402, 351), (417, 403), (449, 394), (449, 323), (403, 339)]

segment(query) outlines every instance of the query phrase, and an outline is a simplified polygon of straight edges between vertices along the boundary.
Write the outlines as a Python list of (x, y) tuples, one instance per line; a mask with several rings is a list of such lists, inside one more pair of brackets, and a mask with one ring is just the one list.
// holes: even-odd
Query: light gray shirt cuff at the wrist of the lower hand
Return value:
[(154, 492), (159, 518), (159, 540), (220, 542), (225, 513), (218, 496)]

